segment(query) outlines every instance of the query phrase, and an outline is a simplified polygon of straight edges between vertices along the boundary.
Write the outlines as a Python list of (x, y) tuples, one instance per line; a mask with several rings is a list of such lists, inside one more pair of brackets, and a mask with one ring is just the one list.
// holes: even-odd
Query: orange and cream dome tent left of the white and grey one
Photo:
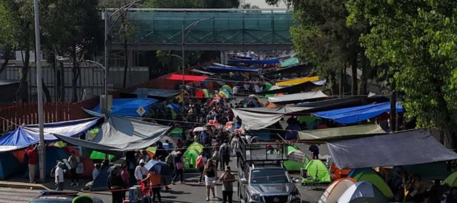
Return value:
[(349, 187), (355, 184), (355, 180), (352, 178), (341, 178), (333, 181), (320, 196), (318, 203), (336, 203), (338, 198), (346, 191)]

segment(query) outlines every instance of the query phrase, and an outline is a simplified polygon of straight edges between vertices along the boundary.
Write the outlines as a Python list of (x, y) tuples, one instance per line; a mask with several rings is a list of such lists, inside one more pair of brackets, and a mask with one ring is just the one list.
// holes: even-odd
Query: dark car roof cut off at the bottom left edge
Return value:
[(28, 203), (103, 203), (103, 200), (77, 192), (42, 191), (40, 196), (31, 199)]

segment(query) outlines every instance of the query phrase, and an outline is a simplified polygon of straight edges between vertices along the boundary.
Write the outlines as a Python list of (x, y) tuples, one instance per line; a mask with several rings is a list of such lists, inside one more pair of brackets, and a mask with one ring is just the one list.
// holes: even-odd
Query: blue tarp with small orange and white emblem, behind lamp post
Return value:
[[(156, 103), (157, 100), (153, 98), (116, 98), (113, 99), (110, 115), (141, 117), (137, 113), (137, 110), (140, 107), (145, 110), (145, 114), (148, 114), (151, 106)], [(86, 112), (94, 116), (102, 115), (100, 105), (95, 107), (92, 111), (86, 110)]]

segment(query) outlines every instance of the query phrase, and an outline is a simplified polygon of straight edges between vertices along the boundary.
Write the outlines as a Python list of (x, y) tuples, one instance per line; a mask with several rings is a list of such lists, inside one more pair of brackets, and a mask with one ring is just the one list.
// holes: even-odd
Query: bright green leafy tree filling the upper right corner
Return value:
[(457, 2), (348, 0), (348, 24), (367, 20), (361, 38), (374, 65), (395, 77), (407, 119), (457, 130)]

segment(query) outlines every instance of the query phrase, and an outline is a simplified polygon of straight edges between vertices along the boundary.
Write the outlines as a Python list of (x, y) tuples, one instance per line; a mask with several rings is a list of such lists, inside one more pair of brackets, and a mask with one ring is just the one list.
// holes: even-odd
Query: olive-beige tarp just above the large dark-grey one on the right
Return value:
[(328, 142), (358, 137), (375, 136), (386, 133), (378, 124), (352, 125), (316, 130), (302, 130), (299, 140), (310, 142)]

